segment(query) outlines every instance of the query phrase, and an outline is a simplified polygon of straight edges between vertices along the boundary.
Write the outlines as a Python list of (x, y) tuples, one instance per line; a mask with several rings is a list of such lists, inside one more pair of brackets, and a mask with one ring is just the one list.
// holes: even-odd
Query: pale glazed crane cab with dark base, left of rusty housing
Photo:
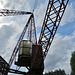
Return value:
[(32, 43), (29, 40), (22, 40), (19, 46), (17, 66), (30, 66), (32, 56)]

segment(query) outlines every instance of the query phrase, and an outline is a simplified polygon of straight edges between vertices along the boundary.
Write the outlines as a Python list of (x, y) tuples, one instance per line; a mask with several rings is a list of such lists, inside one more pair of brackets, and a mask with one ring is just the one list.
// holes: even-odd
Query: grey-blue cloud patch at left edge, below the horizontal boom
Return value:
[[(8, 40), (13, 35), (13, 28), (11, 26), (3, 26), (0, 29), (0, 55), (7, 56), (6, 53), (9, 53), (9, 49), (6, 48), (6, 45), (8, 44)], [(9, 54), (8, 54), (9, 55)], [(6, 57), (5, 57), (6, 58)]]

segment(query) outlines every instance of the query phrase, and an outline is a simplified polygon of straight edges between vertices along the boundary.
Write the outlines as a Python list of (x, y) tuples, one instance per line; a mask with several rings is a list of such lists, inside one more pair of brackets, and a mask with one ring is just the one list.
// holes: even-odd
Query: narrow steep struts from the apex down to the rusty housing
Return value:
[(35, 20), (34, 15), (32, 15), (30, 25), (28, 27), (28, 37), (27, 39), (32, 42), (32, 44), (37, 44), (37, 37), (36, 37), (36, 28), (35, 28)]

